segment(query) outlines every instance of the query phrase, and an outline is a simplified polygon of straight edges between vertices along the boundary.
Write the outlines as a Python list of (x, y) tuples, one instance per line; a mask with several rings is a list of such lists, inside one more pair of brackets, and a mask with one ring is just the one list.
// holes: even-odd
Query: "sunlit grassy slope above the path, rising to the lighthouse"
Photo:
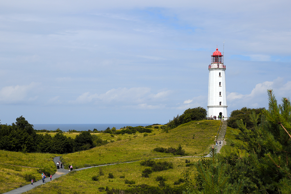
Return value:
[[(137, 161), (142, 159), (173, 157), (173, 154), (154, 152), (156, 147), (177, 147), (179, 144), (189, 156), (206, 155), (209, 145), (213, 144), (220, 121), (191, 121), (161, 133), (150, 133), (148, 136), (128, 136), (90, 150), (65, 154), (62, 161), (65, 166), (74, 164), (75, 168)], [(161, 130), (161, 129), (159, 129)], [(122, 136), (121, 134), (119, 136)]]

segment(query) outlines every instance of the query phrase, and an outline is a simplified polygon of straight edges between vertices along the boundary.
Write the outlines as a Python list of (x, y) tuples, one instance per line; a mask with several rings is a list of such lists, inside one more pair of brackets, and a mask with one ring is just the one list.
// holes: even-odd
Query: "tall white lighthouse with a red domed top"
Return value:
[(223, 65), (223, 55), (216, 49), (211, 56), (211, 64), (208, 66), (208, 104), (207, 117), (213, 118), (218, 115), (224, 116), (227, 120), (226, 89), (225, 89), (225, 70)]

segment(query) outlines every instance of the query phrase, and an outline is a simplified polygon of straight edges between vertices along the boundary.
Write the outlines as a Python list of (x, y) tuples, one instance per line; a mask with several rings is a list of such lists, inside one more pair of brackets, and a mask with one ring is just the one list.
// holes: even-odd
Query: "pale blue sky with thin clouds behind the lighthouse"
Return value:
[[(228, 116), (291, 95), (291, 1), (0, 1), (0, 122), (159, 123), (207, 110), (226, 65)], [(223, 43), (224, 42), (224, 43)]]

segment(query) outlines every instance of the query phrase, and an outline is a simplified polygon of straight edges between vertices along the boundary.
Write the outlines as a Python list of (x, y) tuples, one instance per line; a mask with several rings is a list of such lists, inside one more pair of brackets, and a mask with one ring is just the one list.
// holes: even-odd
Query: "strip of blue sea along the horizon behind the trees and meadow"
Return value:
[(115, 127), (116, 129), (120, 129), (126, 126), (148, 126), (155, 123), (141, 123), (141, 124), (33, 124), (33, 128), (36, 130), (47, 129), (47, 130), (56, 130), (60, 128), (62, 131), (77, 130), (77, 131), (88, 131), (89, 129), (93, 131), (93, 129), (97, 129), (98, 131), (105, 130), (107, 127)]

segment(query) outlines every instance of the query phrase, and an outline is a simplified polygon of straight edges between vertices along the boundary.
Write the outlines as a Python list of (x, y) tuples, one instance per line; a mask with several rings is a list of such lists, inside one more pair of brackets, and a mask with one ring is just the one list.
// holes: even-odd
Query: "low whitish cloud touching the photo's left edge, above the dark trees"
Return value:
[(26, 100), (34, 101), (37, 96), (31, 96), (31, 93), (39, 85), (40, 83), (31, 82), (29, 85), (3, 87), (0, 90), (0, 102), (3, 104), (15, 104)]

